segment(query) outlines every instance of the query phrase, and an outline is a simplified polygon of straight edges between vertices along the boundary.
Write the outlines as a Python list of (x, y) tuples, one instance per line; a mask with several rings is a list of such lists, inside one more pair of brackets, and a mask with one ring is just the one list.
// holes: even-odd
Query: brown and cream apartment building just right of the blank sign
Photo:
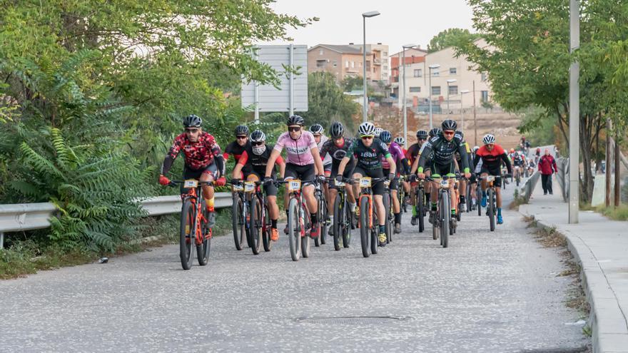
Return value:
[[(366, 78), (382, 81), (388, 77), (388, 46), (366, 45)], [(308, 49), (308, 73), (326, 71), (343, 81), (348, 76), (363, 76), (363, 51), (361, 45), (318, 44)]]

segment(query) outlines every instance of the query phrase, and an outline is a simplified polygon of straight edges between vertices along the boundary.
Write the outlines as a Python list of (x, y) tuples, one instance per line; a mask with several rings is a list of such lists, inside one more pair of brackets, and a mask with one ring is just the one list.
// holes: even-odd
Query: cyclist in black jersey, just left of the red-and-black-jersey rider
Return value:
[[(442, 131), (435, 135), (422, 146), (421, 157), (419, 158), (419, 167), (417, 168), (418, 177), (425, 178), (423, 169), (425, 168), (427, 160), (431, 156), (430, 169), (432, 171), (432, 178), (440, 179), (440, 175), (447, 175), (449, 177), (455, 177), (455, 152), (460, 153), (460, 159), (462, 165), (460, 169), (465, 173), (465, 178), (470, 178), (469, 173), (469, 159), (467, 158), (467, 149), (462, 143), (462, 136), (456, 134), (458, 127), (455, 121), (447, 119), (442, 122)], [(434, 183), (438, 183), (440, 180), (435, 180)], [(452, 200), (457, 200), (455, 190), (453, 190), (453, 183), (450, 184), (452, 188)], [(437, 208), (437, 190), (438, 185), (432, 185), (430, 200), (432, 207), (430, 209), (430, 222), (433, 224), (435, 219), (435, 213)], [(457, 205), (452, 203), (451, 213), (455, 215)]]

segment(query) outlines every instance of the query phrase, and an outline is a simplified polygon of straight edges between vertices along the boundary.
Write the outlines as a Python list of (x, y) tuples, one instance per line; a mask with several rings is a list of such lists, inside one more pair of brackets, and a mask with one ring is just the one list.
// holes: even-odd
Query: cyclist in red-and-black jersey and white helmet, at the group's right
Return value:
[[(512, 165), (510, 165), (510, 159), (506, 154), (506, 151), (502, 146), (495, 143), (495, 136), (490, 133), (482, 138), (484, 145), (475, 153), (475, 159), (473, 162), (477, 163), (482, 159), (482, 169), (480, 173), (482, 177), (487, 175), (501, 175), (502, 161), (506, 164), (508, 173), (512, 173)], [(502, 192), (501, 192), (501, 179), (495, 179), (495, 194), (497, 198), (497, 224), (500, 225), (504, 222), (502, 219)], [(486, 207), (486, 180), (482, 180), (482, 207)]]

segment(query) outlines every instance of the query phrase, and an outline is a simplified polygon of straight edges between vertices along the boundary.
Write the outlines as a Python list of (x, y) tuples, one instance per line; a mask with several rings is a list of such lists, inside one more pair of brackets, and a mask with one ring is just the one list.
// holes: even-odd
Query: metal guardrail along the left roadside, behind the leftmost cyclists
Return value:
[[(231, 193), (216, 193), (216, 208), (231, 206)], [(168, 215), (181, 212), (179, 195), (157, 196), (142, 201), (142, 207), (149, 216)], [(50, 218), (57, 209), (52, 203), (17, 203), (0, 205), (0, 249), (4, 247), (5, 232), (36, 230), (50, 227)]]

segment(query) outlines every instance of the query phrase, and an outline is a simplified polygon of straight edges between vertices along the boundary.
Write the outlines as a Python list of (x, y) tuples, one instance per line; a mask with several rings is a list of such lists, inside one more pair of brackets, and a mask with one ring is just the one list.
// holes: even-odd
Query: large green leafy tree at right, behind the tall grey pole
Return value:
[[(568, 1), (470, 0), (469, 4), (475, 29), (488, 46), (479, 47), (467, 40), (457, 44), (457, 53), (468, 56), (478, 71), (489, 73), (500, 106), (510, 111), (542, 108), (545, 114), (541, 117), (555, 119), (565, 141), (569, 140), (569, 65), (574, 58), (579, 59), (579, 150), (584, 165), (580, 191), (582, 200), (590, 200), (590, 166), (601, 155), (600, 132), (610, 109), (618, 107), (618, 98), (609, 85), (612, 72), (600, 65), (605, 44), (625, 34), (624, 17), (612, 18), (617, 1), (581, 1), (581, 46), (573, 55), (569, 53)], [(608, 30), (609, 26), (617, 29)]]

